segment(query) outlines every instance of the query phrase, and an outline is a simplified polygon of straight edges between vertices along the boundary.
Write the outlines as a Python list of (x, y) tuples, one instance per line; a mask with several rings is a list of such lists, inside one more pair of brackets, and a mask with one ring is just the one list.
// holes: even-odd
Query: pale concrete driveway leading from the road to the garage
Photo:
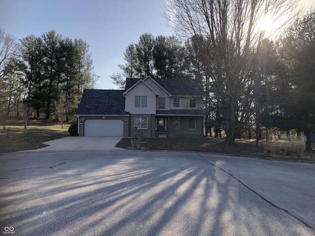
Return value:
[(121, 141), (123, 136), (110, 137), (64, 137), (45, 142), (49, 145), (45, 148), (39, 148), (32, 151), (74, 151), (74, 150), (124, 150), (115, 148), (116, 144)]

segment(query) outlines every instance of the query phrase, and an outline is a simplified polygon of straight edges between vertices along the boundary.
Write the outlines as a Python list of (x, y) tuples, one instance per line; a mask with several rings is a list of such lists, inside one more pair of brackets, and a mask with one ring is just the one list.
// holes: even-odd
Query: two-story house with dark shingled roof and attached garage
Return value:
[(76, 116), (79, 136), (204, 135), (197, 80), (127, 78), (125, 90), (86, 89)]

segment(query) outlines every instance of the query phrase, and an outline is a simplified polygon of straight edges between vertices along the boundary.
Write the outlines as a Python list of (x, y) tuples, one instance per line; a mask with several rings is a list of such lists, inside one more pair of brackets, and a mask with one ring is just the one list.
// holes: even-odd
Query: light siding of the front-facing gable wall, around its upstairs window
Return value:
[[(148, 107), (134, 107), (134, 96), (147, 96)], [(148, 88), (145, 84), (139, 83), (134, 88), (130, 89), (126, 94), (126, 112), (129, 112), (130, 114), (156, 114), (156, 100), (155, 92)]]

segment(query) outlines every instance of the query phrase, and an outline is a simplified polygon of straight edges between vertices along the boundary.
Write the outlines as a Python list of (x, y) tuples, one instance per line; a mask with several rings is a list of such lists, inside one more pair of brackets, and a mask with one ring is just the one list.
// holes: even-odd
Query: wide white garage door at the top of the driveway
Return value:
[(84, 136), (124, 136), (122, 119), (87, 119), (84, 121)]

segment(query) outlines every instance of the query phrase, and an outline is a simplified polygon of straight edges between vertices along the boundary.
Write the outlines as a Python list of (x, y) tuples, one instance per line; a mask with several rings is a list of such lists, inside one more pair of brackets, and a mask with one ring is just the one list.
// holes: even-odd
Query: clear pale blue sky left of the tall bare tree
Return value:
[[(0, 27), (18, 39), (54, 29), (90, 45), (96, 89), (117, 89), (109, 77), (121, 72), (124, 52), (143, 33), (172, 35), (163, 18), (166, 0), (0, 0)], [(315, 0), (301, 0), (309, 10)]]

